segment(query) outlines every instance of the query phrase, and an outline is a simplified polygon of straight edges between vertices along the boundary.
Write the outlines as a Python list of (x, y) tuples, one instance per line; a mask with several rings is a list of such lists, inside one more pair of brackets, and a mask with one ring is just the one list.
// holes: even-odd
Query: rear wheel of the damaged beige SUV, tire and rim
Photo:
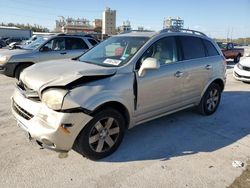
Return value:
[(212, 83), (204, 93), (198, 106), (198, 111), (202, 115), (213, 114), (220, 104), (221, 92), (221, 87), (216, 83)]

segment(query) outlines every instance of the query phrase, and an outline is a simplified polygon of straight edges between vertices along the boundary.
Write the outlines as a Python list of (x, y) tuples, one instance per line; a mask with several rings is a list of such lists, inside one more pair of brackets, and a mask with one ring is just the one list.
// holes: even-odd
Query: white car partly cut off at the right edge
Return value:
[(234, 66), (233, 76), (236, 80), (250, 83), (250, 54)]

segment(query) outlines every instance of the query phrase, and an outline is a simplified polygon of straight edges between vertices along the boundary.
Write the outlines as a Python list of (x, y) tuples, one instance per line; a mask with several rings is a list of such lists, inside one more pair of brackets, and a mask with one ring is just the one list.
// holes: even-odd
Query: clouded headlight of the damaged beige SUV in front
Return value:
[(61, 110), (63, 99), (68, 93), (64, 89), (48, 89), (42, 93), (42, 102), (53, 110)]

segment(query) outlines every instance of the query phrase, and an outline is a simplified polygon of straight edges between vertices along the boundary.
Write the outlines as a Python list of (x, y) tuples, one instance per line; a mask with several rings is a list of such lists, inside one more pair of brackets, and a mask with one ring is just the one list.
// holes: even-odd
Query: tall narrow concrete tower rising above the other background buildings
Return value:
[(116, 34), (116, 10), (106, 8), (102, 14), (102, 34), (115, 35)]

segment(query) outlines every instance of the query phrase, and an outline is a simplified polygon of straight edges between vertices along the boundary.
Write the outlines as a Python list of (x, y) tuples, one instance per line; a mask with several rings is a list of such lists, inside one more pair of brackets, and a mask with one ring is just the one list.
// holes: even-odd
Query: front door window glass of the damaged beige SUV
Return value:
[(178, 58), (177, 58), (177, 48), (176, 48), (175, 38), (166, 37), (155, 42), (142, 55), (138, 64), (136, 65), (136, 68), (138, 69), (141, 63), (146, 58), (149, 58), (149, 57), (157, 59), (161, 65), (176, 62)]

